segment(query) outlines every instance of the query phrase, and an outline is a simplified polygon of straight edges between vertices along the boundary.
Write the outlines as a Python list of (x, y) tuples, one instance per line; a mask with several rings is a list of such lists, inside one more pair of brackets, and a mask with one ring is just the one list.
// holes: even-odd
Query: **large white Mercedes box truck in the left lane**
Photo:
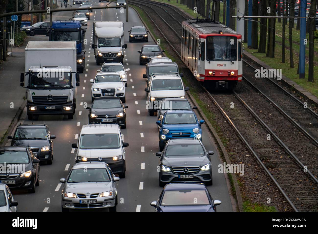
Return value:
[(79, 86), (76, 41), (29, 41), (20, 82), (26, 88), (29, 120), (53, 114), (73, 119)]

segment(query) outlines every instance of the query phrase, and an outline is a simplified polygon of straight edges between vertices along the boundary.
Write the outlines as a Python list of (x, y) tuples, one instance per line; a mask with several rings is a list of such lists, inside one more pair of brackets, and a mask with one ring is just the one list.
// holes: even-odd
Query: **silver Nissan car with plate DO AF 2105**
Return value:
[(116, 212), (117, 183), (105, 162), (79, 162), (73, 165), (62, 190), (62, 212), (70, 209), (109, 208)]

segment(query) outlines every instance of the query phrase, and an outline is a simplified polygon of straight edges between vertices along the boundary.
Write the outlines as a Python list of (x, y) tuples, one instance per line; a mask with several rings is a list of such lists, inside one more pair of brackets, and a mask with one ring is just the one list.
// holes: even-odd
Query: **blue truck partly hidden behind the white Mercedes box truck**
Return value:
[(76, 41), (76, 70), (80, 73), (85, 70), (85, 29), (79, 20), (52, 21), (49, 41)]

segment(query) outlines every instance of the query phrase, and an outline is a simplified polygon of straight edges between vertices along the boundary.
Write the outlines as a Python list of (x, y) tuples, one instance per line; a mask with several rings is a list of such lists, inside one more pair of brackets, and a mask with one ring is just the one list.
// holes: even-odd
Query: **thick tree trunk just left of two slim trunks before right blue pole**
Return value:
[[(275, 2), (269, 1), (268, 2), (270, 9), (275, 9)], [(275, 10), (271, 10), (269, 16), (275, 16)], [(266, 57), (275, 58), (275, 18), (268, 19), (268, 39), (267, 39), (267, 51)]]

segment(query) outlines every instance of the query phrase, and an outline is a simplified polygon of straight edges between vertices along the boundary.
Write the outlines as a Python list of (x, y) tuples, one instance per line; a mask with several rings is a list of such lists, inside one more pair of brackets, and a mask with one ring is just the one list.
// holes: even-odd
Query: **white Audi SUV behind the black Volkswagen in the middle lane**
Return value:
[(101, 97), (117, 97), (125, 103), (125, 84), (127, 79), (121, 78), (118, 72), (113, 73), (97, 73), (95, 79), (90, 79), (92, 83), (92, 102), (95, 98)]

